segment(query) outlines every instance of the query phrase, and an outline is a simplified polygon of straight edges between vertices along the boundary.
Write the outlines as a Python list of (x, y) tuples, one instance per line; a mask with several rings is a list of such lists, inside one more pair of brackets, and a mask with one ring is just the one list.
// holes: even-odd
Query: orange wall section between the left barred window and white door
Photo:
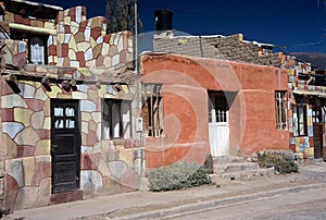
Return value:
[(163, 137), (146, 138), (147, 168), (177, 161), (203, 162), (209, 154), (206, 90), (200, 87), (163, 87)]

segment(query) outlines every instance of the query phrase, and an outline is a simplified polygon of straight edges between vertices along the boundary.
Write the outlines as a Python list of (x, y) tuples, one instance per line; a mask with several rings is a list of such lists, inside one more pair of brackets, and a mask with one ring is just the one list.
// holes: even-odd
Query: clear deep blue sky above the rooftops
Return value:
[[(34, 0), (37, 1), (37, 0)], [(38, 0), (87, 7), (88, 17), (105, 15), (106, 0)], [(143, 33), (155, 29), (154, 11), (174, 11), (173, 28), (190, 35), (233, 35), (268, 42), (287, 52), (326, 52), (326, 0), (139, 0)]]

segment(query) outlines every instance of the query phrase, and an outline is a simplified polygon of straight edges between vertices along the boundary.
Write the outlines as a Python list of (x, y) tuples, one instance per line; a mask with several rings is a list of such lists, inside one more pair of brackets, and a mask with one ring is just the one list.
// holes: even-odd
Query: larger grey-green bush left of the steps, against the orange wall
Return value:
[(149, 172), (149, 188), (153, 192), (174, 191), (211, 184), (209, 169), (198, 162), (177, 162)]

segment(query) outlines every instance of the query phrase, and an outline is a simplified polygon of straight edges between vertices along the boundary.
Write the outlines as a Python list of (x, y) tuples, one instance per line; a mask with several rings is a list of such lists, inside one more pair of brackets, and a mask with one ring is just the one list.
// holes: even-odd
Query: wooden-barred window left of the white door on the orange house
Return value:
[(148, 136), (158, 137), (163, 133), (162, 85), (142, 86), (142, 119)]

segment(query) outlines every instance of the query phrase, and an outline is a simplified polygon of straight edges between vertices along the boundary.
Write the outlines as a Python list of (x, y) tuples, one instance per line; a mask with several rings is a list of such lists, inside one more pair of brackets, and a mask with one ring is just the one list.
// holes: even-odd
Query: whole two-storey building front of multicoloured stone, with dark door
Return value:
[(2, 210), (139, 188), (131, 34), (84, 7), (0, 4)]

